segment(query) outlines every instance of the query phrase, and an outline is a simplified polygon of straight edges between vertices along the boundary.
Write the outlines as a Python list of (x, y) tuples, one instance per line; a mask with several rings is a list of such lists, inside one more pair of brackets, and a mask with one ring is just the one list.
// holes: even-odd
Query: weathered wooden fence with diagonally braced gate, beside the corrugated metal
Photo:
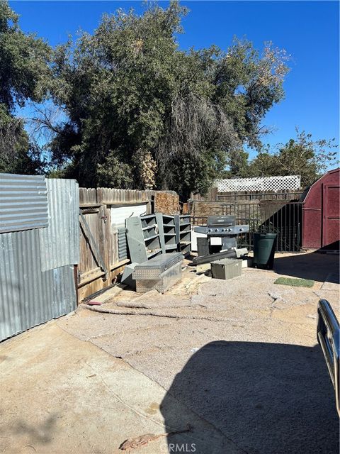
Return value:
[(79, 188), (79, 301), (109, 287), (130, 262), (125, 218), (161, 211), (179, 212), (176, 192)]

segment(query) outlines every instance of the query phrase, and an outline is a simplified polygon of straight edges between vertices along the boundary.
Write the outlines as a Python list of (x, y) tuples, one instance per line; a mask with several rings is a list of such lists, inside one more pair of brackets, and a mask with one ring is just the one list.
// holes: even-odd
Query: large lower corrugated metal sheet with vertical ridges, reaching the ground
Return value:
[(41, 271), (36, 229), (0, 235), (0, 340), (76, 308), (74, 267)]

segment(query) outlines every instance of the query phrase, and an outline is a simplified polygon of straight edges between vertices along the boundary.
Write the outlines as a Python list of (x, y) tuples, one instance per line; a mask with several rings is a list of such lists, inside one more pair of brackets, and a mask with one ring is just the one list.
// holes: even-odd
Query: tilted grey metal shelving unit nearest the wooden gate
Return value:
[(156, 214), (132, 216), (125, 220), (131, 262), (142, 263), (162, 254)]

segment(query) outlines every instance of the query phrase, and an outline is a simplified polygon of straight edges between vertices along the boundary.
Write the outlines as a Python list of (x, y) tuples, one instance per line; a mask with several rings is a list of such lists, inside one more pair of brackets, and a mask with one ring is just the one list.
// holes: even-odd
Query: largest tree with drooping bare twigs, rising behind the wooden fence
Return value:
[(283, 98), (285, 52), (269, 43), (259, 55), (246, 40), (183, 52), (186, 13), (177, 2), (118, 10), (55, 50), (52, 96), (67, 120), (47, 126), (62, 175), (87, 186), (154, 181), (185, 198), (206, 191), (232, 150), (260, 147), (261, 120)]

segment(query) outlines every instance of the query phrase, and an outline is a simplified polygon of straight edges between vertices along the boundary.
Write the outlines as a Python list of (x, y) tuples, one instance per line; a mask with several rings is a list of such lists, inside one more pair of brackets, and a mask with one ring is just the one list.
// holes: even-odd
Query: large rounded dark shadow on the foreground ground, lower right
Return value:
[(194, 449), (182, 444), (185, 436), (169, 436), (170, 453), (339, 453), (334, 390), (318, 345), (208, 343), (162, 402), (166, 426), (184, 428), (190, 421), (176, 413), (171, 397), (223, 433), (229, 450), (214, 446), (207, 432), (193, 440)]

